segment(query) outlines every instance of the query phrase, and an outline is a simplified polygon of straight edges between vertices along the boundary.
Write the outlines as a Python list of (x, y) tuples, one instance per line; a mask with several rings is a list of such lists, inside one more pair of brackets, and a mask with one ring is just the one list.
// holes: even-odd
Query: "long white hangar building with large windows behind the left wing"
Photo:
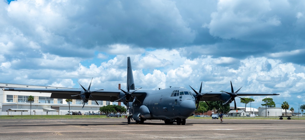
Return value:
[[(7, 84), (0, 83), (0, 88), (36, 88), (36, 89), (68, 89), (62, 87), (51, 86), (32, 86), (32, 85), (20, 85), (20, 84)], [(34, 102), (32, 102), (32, 111), (37, 112), (54, 112), (54, 114), (66, 114), (69, 111), (69, 103), (66, 99), (54, 99), (50, 98), (51, 93), (35, 93), (35, 92), (16, 92), (16, 91), (0, 91), (0, 112), (7, 111), (22, 111), (26, 113), (30, 111), (30, 102), (27, 101), (29, 96), (34, 96)], [(99, 108), (105, 105), (111, 105), (110, 101), (99, 101), (99, 105), (94, 100), (89, 100), (83, 107), (83, 100), (72, 100), (70, 102), (70, 111), (81, 112), (84, 114), (97, 113)], [(55, 113), (57, 112), (57, 113)]]

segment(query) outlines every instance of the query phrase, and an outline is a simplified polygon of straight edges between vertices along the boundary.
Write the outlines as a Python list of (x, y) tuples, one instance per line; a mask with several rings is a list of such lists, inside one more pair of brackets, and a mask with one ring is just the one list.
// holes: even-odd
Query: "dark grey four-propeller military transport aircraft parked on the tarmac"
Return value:
[[(92, 79), (91, 79), (92, 82)], [(135, 83), (132, 74), (131, 60), (127, 57), (127, 88), (126, 90), (96, 90), (90, 91), (83, 86), (82, 89), (30, 89), (30, 88), (15, 88), (3, 90), (23, 91), (23, 92), (40, 92), (52, 93), (51, 98), (60, 99), (81, 99), (87, 103), (90, 97), (95, 100), (106, 100), (111, 102), (123, 102), (136, 123), (143, 124), (145, 120), (163, 120), (165, 124), (178, 125), (185, 124), (185, 120), (190, 117), (197, 109), (199, 101), (224, 101), (231, 103), (235, 97), (239, 96), (270, 96), (279, 95), (276, 93), (238, 93), (234, 92), (231, 82), (231, 93), (229, 92), (201, 92), (202, 82), (197, 92), (195, 89), (190, 90), (183, 87), (170, 87), (160, 90), (135, 90)], [(94, 98), (93, 98), (94, 97)], [(241, 97), (239, 97), (241, 98)], [(242, 99), (242, 98), (241, 98)], [(96, 102), (97, 103), (97, 102)], [(197, 103), (197, 106), (196, 106)], [(98, 104), (98, 103), (97, 103)], [(130, 104), (130, 105), (129, 105)], [(84, 106), (83, 106), (84, 107)]]

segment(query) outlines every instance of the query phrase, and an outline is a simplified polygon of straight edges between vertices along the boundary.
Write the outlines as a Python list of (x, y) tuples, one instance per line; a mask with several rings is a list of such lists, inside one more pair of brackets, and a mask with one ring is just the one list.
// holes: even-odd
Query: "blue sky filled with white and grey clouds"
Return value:
[[(0, 82), (279, 93), (305, 104), (303, 1), (0, 0)], [(189, 88), (190, 89), (190, 88)], [(261, 107), (265, 96), (252, 107)], [(237, 106), (244, 106), (237, 99)]]

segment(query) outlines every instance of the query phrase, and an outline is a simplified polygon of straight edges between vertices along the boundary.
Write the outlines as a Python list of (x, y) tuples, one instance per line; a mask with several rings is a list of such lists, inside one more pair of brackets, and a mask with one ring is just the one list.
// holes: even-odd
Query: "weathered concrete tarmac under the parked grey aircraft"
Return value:
[(125, 118), (1, 119), (0, 139), (305, 139), (305, 120), (187, 119), (185, 125)]

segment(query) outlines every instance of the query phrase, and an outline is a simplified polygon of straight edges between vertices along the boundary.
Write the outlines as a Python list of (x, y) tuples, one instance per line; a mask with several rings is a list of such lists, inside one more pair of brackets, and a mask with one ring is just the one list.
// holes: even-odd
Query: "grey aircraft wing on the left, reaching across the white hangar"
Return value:
[[(82, 89), (30, 89), (30, 88), (3, 88), (4, 91), (20, 91), (20, 92), (38, 92), (38, 93), (51, 93), (51, 98), (57, 99), (78, 99), (80, 96), (71, 96), (81, 94)], [(100, 90), (91, 93), (95, 100), (111, 101), (118, 100), (120, 90)], [(142, 96), (143, 92), (135, 92), (132, 96)]]

